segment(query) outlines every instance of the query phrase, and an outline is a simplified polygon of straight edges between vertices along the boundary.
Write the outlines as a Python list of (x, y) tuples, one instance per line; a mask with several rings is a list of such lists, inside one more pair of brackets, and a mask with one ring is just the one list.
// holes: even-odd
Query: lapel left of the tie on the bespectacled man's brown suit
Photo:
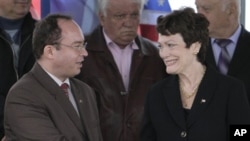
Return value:
[(83, 133), (82, 124), (78, 114), (76, 113), (73, 105), (68, 97), (64, 94), (63, 90), (50, 78), (50, 76), (41, 68), (37, 63), (32, 70), (34, 77), (38, 82), (51, 94), (62, 109), (67, 113), (68, 117), (75, 124), (75, 126)]

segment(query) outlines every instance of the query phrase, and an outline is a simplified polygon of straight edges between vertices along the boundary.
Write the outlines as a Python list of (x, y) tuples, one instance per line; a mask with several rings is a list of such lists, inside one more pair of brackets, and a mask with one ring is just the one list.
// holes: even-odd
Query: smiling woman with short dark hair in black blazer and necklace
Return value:
[(159, 17), (160, 56), (170, 75), (148, 92), (141, 141), (228, 141), (250, 124), (243, 84), (205, 63), (208, 21), (191, 8)]

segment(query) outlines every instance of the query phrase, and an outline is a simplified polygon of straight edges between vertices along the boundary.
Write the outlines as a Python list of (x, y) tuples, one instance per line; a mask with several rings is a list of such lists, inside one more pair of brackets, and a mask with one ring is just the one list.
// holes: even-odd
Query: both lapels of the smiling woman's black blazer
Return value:
[(190, 128), (199, 118), (202, 118), (203, 112), (206, 111), (215, 93), (216, 85), (218, 85), (217, 75), (215, 70), (207, 67), (187, 120), (185, 120), (182, 107), (178, 77), (175, 75), (168, 78), (167, 84), (163, 86), (163, 95), (170, 115), (182, 129)]

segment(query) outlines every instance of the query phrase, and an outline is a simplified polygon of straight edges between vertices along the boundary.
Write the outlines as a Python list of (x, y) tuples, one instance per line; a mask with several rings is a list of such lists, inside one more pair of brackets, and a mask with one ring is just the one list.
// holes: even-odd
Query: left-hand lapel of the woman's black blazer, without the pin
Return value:
[(163, 88), (163, 95), (166, 100), (170, 115), (182, 129), (186, 129), (185, 115), (181, 103), (179, 83), (177, 76), (170, 76), (171, 79)]

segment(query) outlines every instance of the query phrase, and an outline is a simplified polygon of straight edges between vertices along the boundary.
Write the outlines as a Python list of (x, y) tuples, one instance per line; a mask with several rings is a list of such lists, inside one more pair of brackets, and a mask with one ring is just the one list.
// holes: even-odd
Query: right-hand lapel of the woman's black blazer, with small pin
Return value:
[(206, 73), (194, 99), (191, 112), (187, 118), (188, 127), (192, 126), (197, 120), (199, 120), (199, 118), (202, 118), (203, 113), (209, 106), (216, 89), (217, 75), (218, 73), (216, 74), (215, 70), (207, 67)]

